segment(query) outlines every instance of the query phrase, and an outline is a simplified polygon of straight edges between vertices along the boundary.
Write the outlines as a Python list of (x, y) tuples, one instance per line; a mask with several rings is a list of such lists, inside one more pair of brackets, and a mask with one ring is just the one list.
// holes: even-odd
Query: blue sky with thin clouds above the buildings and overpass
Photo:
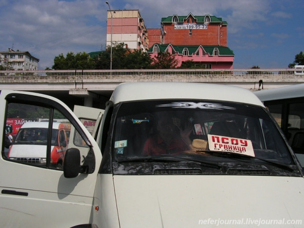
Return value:
[[(288, 68), (304, 51), (303, 0), (108, 0), (111, 9), (139, 9), (147, 28), (161, 17), (215, 15), (228, 22), (234, 68)], [(0, 50), (29, 51), (39, 69), (55, 56), (105, 49), (103, 0), (0, 0)]]

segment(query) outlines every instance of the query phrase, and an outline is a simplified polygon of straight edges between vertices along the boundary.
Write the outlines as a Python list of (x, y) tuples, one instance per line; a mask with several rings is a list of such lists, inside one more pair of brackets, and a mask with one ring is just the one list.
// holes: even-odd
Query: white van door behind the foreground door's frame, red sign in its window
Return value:
[(96, 140), (97, 130), (105, 110), (75, 105), (73, 112)]

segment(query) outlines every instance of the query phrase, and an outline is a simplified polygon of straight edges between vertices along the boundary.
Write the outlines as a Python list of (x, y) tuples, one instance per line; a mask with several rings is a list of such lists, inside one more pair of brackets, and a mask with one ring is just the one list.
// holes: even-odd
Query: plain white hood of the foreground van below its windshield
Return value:
[(116, 175), (114, 186), (121, 228), (304, 223), (301, 177)]

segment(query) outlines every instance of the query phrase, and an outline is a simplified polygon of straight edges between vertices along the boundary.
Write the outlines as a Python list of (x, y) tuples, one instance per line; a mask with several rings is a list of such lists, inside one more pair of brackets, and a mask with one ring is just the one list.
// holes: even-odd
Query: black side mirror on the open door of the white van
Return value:
[(63, 175), (65, 178), (75, 178), (80, 173), (80, 151), (77, 148), (67, 149), (63, 162)]

